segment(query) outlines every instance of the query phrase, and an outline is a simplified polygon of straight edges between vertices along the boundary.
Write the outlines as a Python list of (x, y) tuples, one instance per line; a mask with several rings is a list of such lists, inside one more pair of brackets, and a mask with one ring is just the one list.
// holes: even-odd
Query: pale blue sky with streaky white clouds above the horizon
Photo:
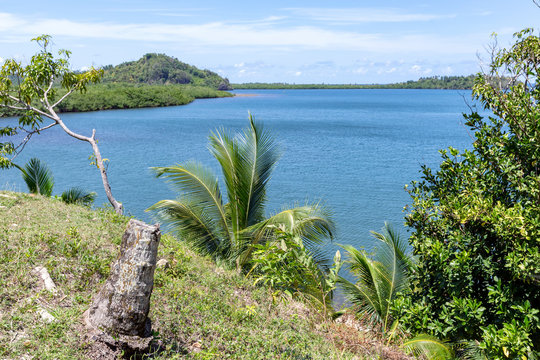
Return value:
[(0, 0), (0, 63), (49, 34), (74, 69), (155, 52), (233, 83), (390, 83), (476, 73), (493, 33), (507, 47), (525, 27), (533, 0)]

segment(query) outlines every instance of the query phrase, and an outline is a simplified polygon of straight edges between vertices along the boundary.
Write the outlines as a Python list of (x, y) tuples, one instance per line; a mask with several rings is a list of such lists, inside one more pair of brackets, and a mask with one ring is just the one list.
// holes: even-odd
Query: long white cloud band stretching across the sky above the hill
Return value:
[(51, 34), (77, 39), (174, 43), (190, 47), (259, 47), (298, 51), (347, 50), (382, 53), (474, 53), (477, 48), (460, 38), (435, 35), (382, 35), (323, 29), (315, 26), (263, 26), (257, 24), (119, 24), (77, 22), (66, 19), (31, 19), (0, 13), (0, 42), (8, 36)]

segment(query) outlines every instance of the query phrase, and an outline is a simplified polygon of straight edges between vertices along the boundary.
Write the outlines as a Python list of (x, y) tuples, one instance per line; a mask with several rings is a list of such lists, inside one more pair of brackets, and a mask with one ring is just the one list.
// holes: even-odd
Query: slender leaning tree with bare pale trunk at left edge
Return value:
[[(74, 92), (85, 92), (88, 84), (97, 83), (102, 70), (91, 68), (82, 73), (69, 69), (70, 52), (59, 50), (58, 58), (49, 52), (51, 37), (43, 35), (33, 39), (41, 50), (32, 56), (30, 63), (23, 66), (15, 60), (6, 60), (0, 71), (0, 108), (15, 110), (19, 116), (19, 126), (0, 128), (0, 137), (11, 137), (18, 133), (26, 134), (23, 140), (14, 145), (12, 141), (0, 142), (0, 168), (14, 166), (14, 159), (24, 149), (34, 134), (60, 126), (69, 136), (88, 142), (92, 146), (93, 158), (98, 167), (107, 198), (115, 211), (122, 213), (122, 204), (116, 201), (111, 192), (107, 169), (96, 139), (96, 130), (91, 136), (84, 136), (70, 130), (57, 114), (58, 105)], [(52, 120), (43, 125), (45, 119)]]

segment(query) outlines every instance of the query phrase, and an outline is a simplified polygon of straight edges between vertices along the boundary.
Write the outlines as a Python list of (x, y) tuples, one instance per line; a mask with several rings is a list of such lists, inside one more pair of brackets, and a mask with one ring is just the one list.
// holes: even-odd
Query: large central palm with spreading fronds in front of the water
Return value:
[(251, 258), (253, 245), (265, 243), (274, 229), (298, 235), (306, 244), (332, 236), (334, 224), (320, 204), (285, 209), (265, 218), (266, 189), (280, 155), (277, 145), (262, 124), (249, 115), (250, 126), (232, 136), (224, 130), (212, 133), (210, 152), (219, 162), (227, 200), (217, 176), (196, 162), (153, 170), (166, 178), (180, 196), (161, 200), (148, 210), (180, 238), (200, 252), (238, 270)]

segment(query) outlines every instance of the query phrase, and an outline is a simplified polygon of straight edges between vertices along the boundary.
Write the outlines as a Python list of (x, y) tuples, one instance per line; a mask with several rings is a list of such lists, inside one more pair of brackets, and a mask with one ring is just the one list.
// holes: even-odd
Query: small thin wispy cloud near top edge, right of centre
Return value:
[(318, 21), (330, 21), (337, 23), (372, 23), (372, 22), (411, 22), (431, 21), (442, 18), (455, 17), (455, 15), (438, 14), (412, 14), (400, 9), (373, 9), (373, 8), (350, 8), (350, 9), (327, 9), (327, 8), (287, 8), (285, 10), (301, 16), (306, 16)]

